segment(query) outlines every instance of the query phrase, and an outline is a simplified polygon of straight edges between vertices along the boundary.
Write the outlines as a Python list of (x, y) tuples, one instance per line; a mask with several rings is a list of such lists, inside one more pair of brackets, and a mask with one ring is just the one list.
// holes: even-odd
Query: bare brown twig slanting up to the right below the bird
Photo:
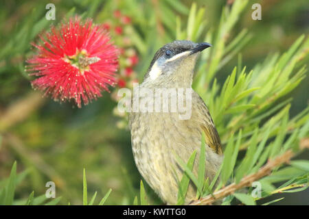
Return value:
[[(300, 142), (300, 148), (305, 149), (309, 148), (309, 139), (305, 138), (301, 140)], [(275, 157), (275, 159), (269, 160), (267, 164), (262, 166), (258, 172), (255, 172), (247, 177), (242, 178), (242, 180), (239, 183), (231, 183), (225, 188), (222, 188), (221, 190), (218, 190), (217, 192), (214, 192), (212, 195), (208, 195), (205, 198), (201, 198), (199, 200), (196, 200), (192, 202), (190, 205), (211, 205), (214, 203), (214, 201), (218, 201), (222, 198), (225, 198), (226, 196), (229, 196), (230, 194), (233, 194), (237, 190), (240, 190), (244, 187), (251, 186), (251, 183), (254, 181), (258, 181), (258, 179), (261, 179), (262, 177), (265, 177), (266, 175), (269, 175), (271, 173), (271, 170), (273, 168), (287, 163), (290, 161), (290, 159), (295, 155), (292, 150), (288, 150), (282, 155), (279, 155)]]

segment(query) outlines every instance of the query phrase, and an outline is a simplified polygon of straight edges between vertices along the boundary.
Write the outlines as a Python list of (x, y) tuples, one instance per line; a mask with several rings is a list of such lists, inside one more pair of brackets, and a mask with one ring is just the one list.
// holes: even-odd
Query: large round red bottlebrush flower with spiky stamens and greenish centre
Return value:
[(78, 107), (102, 96), (102, 90), (115, 85), (118, 49), (111, 43), (102, 25), (70, 19), (40, 36), (33, 44), (38, 53), (27, 60), (26, 70), (38, 78), (34, 89), (45, 91), (53, 99), (73, 99)]

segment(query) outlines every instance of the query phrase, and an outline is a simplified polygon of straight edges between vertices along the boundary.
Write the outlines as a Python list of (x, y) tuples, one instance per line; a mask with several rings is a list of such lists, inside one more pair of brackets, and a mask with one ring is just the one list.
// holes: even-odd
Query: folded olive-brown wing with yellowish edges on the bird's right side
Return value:
[(198, 96), (201, 101), (199, 101), (200, 110), (203, 112), (201, 115), (202, 124), (201, 127), (205, 133), (205, 143), (218, 155), (222, 155), (222, 147), (220, 142), (220, 137), (218, 131), (214, 125), (209, 110), (205, 105), (201, 96)]

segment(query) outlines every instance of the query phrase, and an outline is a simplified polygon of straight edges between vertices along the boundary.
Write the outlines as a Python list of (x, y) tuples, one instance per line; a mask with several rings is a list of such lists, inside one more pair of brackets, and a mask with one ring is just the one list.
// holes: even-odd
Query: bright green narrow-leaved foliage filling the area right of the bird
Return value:
[[(220, 179), (217, 188), (229, 183), (239, 183), (242, 177), (253, 174), (266, 163), (267, 160), (281, 155), (288, 149), (299, 151), (299, 140), (308, 137), (309, 108), (299, 113), (294, 118), (289, 118), (291, 99), (282, 99), (295, 89), (306, 77), (306, 66), (302, 65), (302, 60), (309, 57), (309, 39), (300, 36), (294, 44), (282, 55), (278, 53), (266, 57), (262, 64), (255, 64), (252, 70), (247, 72), (244, 66), (233, 68), (231, 75), (227, 77), (222, 88), (217, 83), (216, 72), (225, 65), (231, 57), (240, 51), (245, 42), (250, 39), (247, 31), (242, 31), (227, 44), (222, 40), (222, 36), (229, 34), (229, 31), (236, 24), (239, 14), (244, 9), (247, 1), (236, 1), (231, 9), (225, 8), (222, 12), (218, 31), (206, 34), (206, 40), (214, 42), (209, 55), (202, 55), (203, 64), (197, 67), (197, 75), (194, 80), (194, 89), (203, 97), (211, 116), (220, 133), (225, 146), (225, 159), (220, 169)], [(200, 9), (203, 10), (203, 9)], [(194, 18), (192, 18), (194, 16)], [(194, 27), (203, 27), (198, 20), (196, 5), (192, 5), (187, 31), (181, 31), (179, 27), (178, 37), (190, 38), (197, 32)], [(194, 22), (197, 25), (194, 25)], [(191, 38), (190, 38), (191, 39)], [(212, 39), (212, 40), (210, 40)], [(223, 38), (225, 39), (225, 38)], [(193, 38), (193, 40), (196, 40)], [(242, 43), (240, 43), (242, 42)], [(233, 48), (232, 48), (233, 47)], [(231, 51), (237, 51), (231, 53)], [(240, 60), (241, 63), (241, 60)], [(207, 66), (206, 66), (207, 64)], [(214, 80), (213, 80), (214, 79)], [(205, 89), (212, 82), (211, 90)], [(266, 120), (268, 119), (268, 120)], [(300, 131), (301, 130), (301, 131)], [(235, 138), (235, 133), (237, 137)], [(238, 159), (238, 151), (246, 149), (246, 154), (242, 160)], [(194, 155), (194, 154), (192, 154)], [(207, 157), (200, 158), (199, 165), (205, 164)], [(183, 161), (179, 164), (190, 177), (196, 188), (201, 186), (201, 182), (196, 180), (190, 167)], [(290, 162), (291, 166), (275, 168), (271, 175), (260, 179), (262, 184), (262, 196), (253, 198), (251, 190), (246, 193), (234, 193), (225, 198), (222, 203), (229, 205), (235, 196), (245, 205), (255, 205), (255, 201), (279, 192), (299, 192), (308, 186), (309, 163), (307, 160), (295, 160)], [(191, 167), (192, 168), (192, 167)], [(293, 172), (293, 175), (291, 173)], [(273, 183), (289, 180), (278, 188)], [(214, 180), (216, 181), (216, 179)], [(215, 185), (214, 181), (211, 185)], [(205, 181), (208, 184), (208, 181)], [(291, 188), (296, 188), (291, 190)], [(212, 194), (209, 190), (203, 191), (203, 196)], [(181, 187), (179, 188), (181, 192)], [(197, 196), (199, 194), (197, 192)], [(265, 203), (269, 205), (282, 198)]]

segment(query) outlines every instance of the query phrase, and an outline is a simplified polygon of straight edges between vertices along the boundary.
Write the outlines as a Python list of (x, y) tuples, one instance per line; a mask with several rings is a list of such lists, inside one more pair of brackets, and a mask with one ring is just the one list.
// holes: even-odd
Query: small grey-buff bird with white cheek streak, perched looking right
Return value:
[[(198, 54), (211, 47), (207, 42), (194, 43), (175, 40), (155, 53), (144, 81), (139, 89), (192, 88), (194, 66)], [(178, 94), (177, 94), (178, 95)], [(129, 127), (135, 164), (141, 176), (168, 205), (175, 205), (183, 168), (175, 154), (184, 162), (196, 151), (193, 173), (198, 172), (202, 133), (205, 133), (205, 177), (214, 179), (222, 163), (220, 138), (203, 99), (192, 90), (191, 116), (179, 118), (181, 112), (133, 111), (129, 114)], [(154, 95), (156, 97), (156, 95)], [(172, 99), (169, 96), (168, 101)], [(145, 95), (134, 95), (132, 101), (145, 101)], [(163, 99), (164, 101), (164, 99)], [(166, 100), (165, 100), (166, 101)], [(185, 204), (196, 197), (196, 187), (190, 183)]]

